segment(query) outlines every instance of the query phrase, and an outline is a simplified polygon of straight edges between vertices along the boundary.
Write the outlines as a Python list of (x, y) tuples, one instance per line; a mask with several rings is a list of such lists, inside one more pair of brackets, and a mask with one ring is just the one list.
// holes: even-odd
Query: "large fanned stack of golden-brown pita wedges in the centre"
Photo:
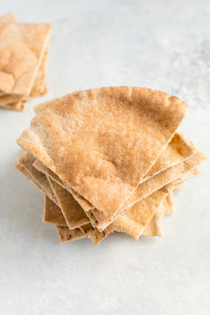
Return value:
[(173, 193), (207, 159), (177, 131), (187, 108), (139, 87), (77, 91), (34, 108), (15, 167), (44, 192), (43, 219), (61, 242), (163, 235)]

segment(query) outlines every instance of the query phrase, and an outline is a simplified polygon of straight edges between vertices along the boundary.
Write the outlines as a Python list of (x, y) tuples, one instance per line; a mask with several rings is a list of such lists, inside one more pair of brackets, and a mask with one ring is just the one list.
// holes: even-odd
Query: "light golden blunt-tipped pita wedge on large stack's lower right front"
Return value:
[[(196, 160), (196, 159), (195, 159)], [(195, 163), (198, 163), (196, 160)], [(191, 178), (196, 175), (194, 169), (189, 170), (184, 174), (184, 178)], [(167, 184), (161, 189), (153, 192), (151, 195), (143, 198), (138, 203), (135, 203), (128, 211), (117, 218), (113, 223), (128, 233), (131, 237), (139, 239), (143, 230), (150, 222), (157, 209), (160, 207), (162, 202), (165, 200), (169, 192), (173, 191), (174, 186), (182, 181), (182, 176), (179, 179)]]

